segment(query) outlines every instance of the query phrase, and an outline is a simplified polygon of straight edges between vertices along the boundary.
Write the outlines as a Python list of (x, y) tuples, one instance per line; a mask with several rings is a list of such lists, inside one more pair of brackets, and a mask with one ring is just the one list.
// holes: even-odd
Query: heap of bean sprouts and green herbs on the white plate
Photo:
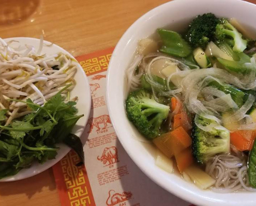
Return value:
[(76, 115), (78, 98), (69, 97), (78, 62), (61, 53), (40, 54), (43, 39), (38, 50), (12, 43), (0, 38), (0, 179), (54, 159), (56, 143), (67, 144), (83, 161), (82, 143), (71, 134), (83, 115)]

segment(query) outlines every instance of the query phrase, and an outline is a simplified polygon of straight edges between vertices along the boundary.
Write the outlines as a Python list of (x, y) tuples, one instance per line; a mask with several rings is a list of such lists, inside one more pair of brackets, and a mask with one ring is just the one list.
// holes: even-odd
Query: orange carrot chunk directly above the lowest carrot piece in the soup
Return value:
[(172, 136), (172, 149), (174, 155), (191, 145), (191, 138), (183, 127), (178, 127), (170, 132)]

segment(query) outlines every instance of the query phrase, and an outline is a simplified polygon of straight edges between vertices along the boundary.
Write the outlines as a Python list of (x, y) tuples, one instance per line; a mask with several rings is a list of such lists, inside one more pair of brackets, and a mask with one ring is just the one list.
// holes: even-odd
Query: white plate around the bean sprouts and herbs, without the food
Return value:
[[(18, 46), (18, 45), (32, 45), (36, 48), (36, 50), (39, 47), (40, 40), (34, 39), (34, 38), (25, 38), (25, 37), (17, 37), (17, 38), (8, 38), (5, 39), (6, 42), (10, 40), (16, 40), (20, 43), (12, 43), (12, 46)], [(51, 44), (51, 42), (44, 41), (44, 43)], [(74, 58), (71, 54), (69, 54), (65, 49), (57, 46), (56, 44), (53, 44), (52, 46), (43, 46), (41, 54), (47, 54), (47, 55), (53, 55), (56, 53), (62, 52), (63, 54), (67, 54), (70, 57)], [(78, 115), (84, 114), (82, 118), (79, 119), (77, 122), (77, 125), (73, 128), (72, 132), (79, 137), (82, 135), (83, 130), (86, 126), (90, 110), (91, 110), (91, 91), (89, 88), (89, 82), (88, 79), (83, 71), (83, 68), (79, 65), (78, 71), (76, 75), (74, 76), (74, 79), (76, 80), (77, 84), (76, 87), (70, 92), (70, 97), (78, 96), (78, 102), (76, 108), (78, 109)], [(22, 169), (17, 175), (3, 178), (0, 180), (0, 182), (7, 182), (7, 181), (15, 181), (15, 180), (21, 180), (28, 177), (32, 177), (34, 175), (37, 175), (41, 173), (42, 171), (50, 168), (54, 164), (56, 164), (59, 160), (64, 158), (64, 156), (67, 155), (67, 153), (70, 151), (70, 148), (64, 144), (58, 144), (58, 147), (60, 149), (58, 150), (58, 154), (55, 159), (49, 160), (44, 164), (35, 163), (31, 167), (27, 169)]]

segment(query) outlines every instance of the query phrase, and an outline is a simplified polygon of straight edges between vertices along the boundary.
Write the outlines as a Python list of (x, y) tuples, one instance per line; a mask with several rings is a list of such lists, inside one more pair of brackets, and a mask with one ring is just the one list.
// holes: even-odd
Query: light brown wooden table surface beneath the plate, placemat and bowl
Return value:
[[(44, 36), (73, 56), (116, 45), (142, 14), (169, 0), (2, 0), (2, 38)], [(256, 3), (256, 0), (249, 2)], [(0, 183), (1, 206), (61, 205), (52, 169)]]

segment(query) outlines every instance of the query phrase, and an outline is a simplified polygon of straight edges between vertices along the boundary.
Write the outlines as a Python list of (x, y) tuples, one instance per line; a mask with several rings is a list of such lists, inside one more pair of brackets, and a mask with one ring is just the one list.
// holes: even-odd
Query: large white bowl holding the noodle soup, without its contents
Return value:
[[(256, 193), (236, 192), (229, 194), (200, 190), (180, 176), (168, 174), (155, 166), (152, 149), (135, 140), (140, 136), (126, 117), (124, 101), (125, 70), (130, 64), (138, 40), (145, 38), (159, 27), (180, 30), (198, 14), (212, 12), (219, 17), (237, 18), (241, 23), (256, 29), (256, 6), (237, 0), (178, 0), (161, 5), (134, 22), (115, 47), (108, 68), (107, 104), (112, 124), (119, 141), (141, 170), (165, 190), (197, 205), (244, 206), (256, 205)], [(154, 198), (157, 198), (157, 194)], [(171, 204), (171, 203), (170, 203)]]

